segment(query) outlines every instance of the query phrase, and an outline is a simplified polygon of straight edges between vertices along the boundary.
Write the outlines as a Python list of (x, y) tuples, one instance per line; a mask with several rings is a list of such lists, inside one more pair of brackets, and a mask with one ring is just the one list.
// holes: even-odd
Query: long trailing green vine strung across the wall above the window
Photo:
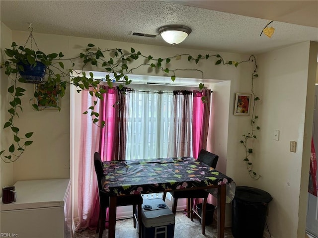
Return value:
[[(43, 108), (39, 108), (38, 104), (32, 104), (32, 107), (35, 111), (41, 111), (45, 107), (57, 107), (59, 110), (59, 102), (61, 98), (65, 95), (67, 90), (67, 85), (73, 84), (77, 87), (77, 92), (83, 90), (89, 90), (89, 94), (94, 97), (93, 105), (91, 105), (83, 114), (88, 114), (93, 123), (98, 126), (104, 126), (105, 121), (99, 121), (99, 114), (95, 111), (95, 106), (98, 103), (98, 100), (103, 100), (103, 93), (105, 90), (103, 87), (100, 87), (99, 84), (102, 81), (105, 81), (109, 87), (113, 87), (114, 82), (119, 82), (119, 88), (123, 88), (132, 83), (132, 80), (129, 78), (129, 74), (132, 74), (134, 70), (139, 67), (148, 67), (149, 69), (157, 69), (161, 71), (165, 76), (169, 76), (172, 81), (175, 81), (177, 71), (197, 71), (201, 74), (202, 82), (199, 84), (199, 89), (202, 90), (204, 86), (204, 73), (202, 70), (197, 68), (171, 68), (168, 65), (171, 64), (171, 60), (180, 60), (183, 57), (186, 57), (189, 63), (193, 61), (197, 64), (200, 60), (208, 60), (211, 58), (216, 59), (214, 64), (229, 64), (238, 67), (240, 63), (243, 62), (254, 62), (255, 69), (252, 73), (252, 94), (254, 99), (254, 104), (252, 107), (252, 120), (251, 120), (251, 131), (244, 136), (244, 140), (240, 142), (245, 147), (245, 158), (247, 169), (249, 175), (253, 179), (258, 179), (257, 174), (252, 170), (252, 163), (248, 159), (250, 154), (252, 154), (252, 149), (248, 148), (247, 142), (250, 139), (256, 139), (254, 134), (255, 130), (259, 130), (259, 127), (255, 127), (255, 120), (257, 116), (254, 117), (254, 107), (255, 102), (259, 100), (258, 97), (255, 97), (253, 92), (253, 80), (257, 77), (256, 74), (256, 60), (254, 56), (250, 56), (248, 60), (234, 61), (229, 60), (225, 61), (219, 54), (216, 55), (198, 55), (197, 57), (192, 57), (189, 54), (180, 54), (168, 58), (154, 58), (153, 56), (145, 56), (141, 52), (136, 52), (135, 49), (131, 48), (130, 51), (124, 51), (122, 49), (108, 49), (102, 51), (100, 48), (95, 47), (93, 44), (88, 44), (86, 49), (79, 54), (78, 57), (66, 59), (62, 52), (59, 54), (51, 53), (44, 54), (40, 51), (33, 51), (32, 49), (24, 48), (22, 46), (17, 46), (14, 42), (12, 43), (12, 49), (5, 49), (5, 54), (9, 57), (4, 63), (1, 63), (1, 67), (5, 68), (5, 74), (13, 81), (13, 85), (8, 88), (8, 93), (12, 96), (13, 100), (9, 102), (10, 108), (8, 113), (10, 115), (8, 121), (4, 123), (3, 128), (10, 128), (13, 133), (14, 141), (12, 145), (8, 148), (8, 153), (4, 155), (5, 150), (0, 151), (1, 159), (4, 162), (14, 162), (16, 161), (25, 151), (25, 148), (32, 144), (32, 140), (29, 138), (33, 135), (33, 132), (27, 132), (23, 136), (19, 135), (20, 129), (15, 125), (15, 118), (19, 118), (18, 111), (22, 113), (22, 102), (21, 96), (24, 95), (25, 89), (18, 85), (18, 83), (25, 82), (22, 77), (19, 75), (19, 71), (23, 70), (18, 63), (23, 61), (24, 63), (29, 63), (33, 66), (37, 62), (42, 62), (46, 65), (47, 79), (41, 84), (43, 88), (46, 89), (44, 92), (34, 92), (34, 97), (38, 100), (38, 103), (44, 105)], [(109, 57), (105, 58), (105, 54), (108, 54)], [(71, 62), (71, 68), (65, 69), (64, 62), (65, 60)], [(81, 60), (81, 67), (78, 73), (79, 76), (72, 77), (70, 79), (70, 73), (73, 73), (75, 66), (74, 61)], [(134, 67), (130, 67), (130, 63), (134, 61), (141, 61), (140, 64)], [(89, 75), (86, 75), (85, 68), (87, 66), (96, 66), (98, 69), (102, 68), (105, 71), (105, 77), (102, 80), (94, 79), (92, 72)], [(11, 74), (14, 77), (11, 77)], [(66, 79), (64, 79), (66, 78)], [(92, 89), (92, 90), (91, 90)], [(52, 92), (55, 92), (54, 98), (52, 100)], [(205, 98), (202, 99), (205, 101)]]

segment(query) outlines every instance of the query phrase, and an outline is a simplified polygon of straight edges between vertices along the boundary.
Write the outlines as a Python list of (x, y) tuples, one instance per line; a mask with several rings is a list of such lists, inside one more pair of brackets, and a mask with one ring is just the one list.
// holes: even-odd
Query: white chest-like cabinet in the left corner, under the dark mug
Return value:
[(1, 235), (70, 238), (70, 179), (17, 181), (16, 202), (0, 204)]

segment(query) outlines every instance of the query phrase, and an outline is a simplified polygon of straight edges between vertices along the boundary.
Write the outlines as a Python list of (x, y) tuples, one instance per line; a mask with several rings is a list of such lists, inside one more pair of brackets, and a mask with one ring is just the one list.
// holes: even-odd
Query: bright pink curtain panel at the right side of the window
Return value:
[[(202, 97), (205, 97), (204, 103)], [(192, 150), (194, 158), (198, 158), (200, 150), (207, 147), (210, 103), (211, 90), (193, 91)]]

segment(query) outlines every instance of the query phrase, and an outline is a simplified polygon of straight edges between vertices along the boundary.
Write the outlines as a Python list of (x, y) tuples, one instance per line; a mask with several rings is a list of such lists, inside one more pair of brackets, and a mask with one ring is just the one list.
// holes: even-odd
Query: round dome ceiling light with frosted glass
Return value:
[(163, 40), (172, 45), (176, 45), (184, 41), (191, 31), (190, 27), (182, 25), (167, 25), (161, 26), (158, 29)]

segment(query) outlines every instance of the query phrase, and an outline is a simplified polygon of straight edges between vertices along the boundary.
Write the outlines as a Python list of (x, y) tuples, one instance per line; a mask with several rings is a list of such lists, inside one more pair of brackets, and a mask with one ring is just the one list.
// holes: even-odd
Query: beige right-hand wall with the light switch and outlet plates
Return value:
[[(252, 185), (273, 197), (267, 221), (274, 238), (302, 238), (305, 233), (314, 109), (309, 88), (314, 89), (316, 78), (316, 68), (309, 70), (309, 51), (306, 42), (258, 57), (261, 131), (254, 164), (262, 178)], [(273, 140), (274, 130), (280, 131), (279, 141)], [(297, 141), (296, 153), (289, 151), (291, 140)]]

